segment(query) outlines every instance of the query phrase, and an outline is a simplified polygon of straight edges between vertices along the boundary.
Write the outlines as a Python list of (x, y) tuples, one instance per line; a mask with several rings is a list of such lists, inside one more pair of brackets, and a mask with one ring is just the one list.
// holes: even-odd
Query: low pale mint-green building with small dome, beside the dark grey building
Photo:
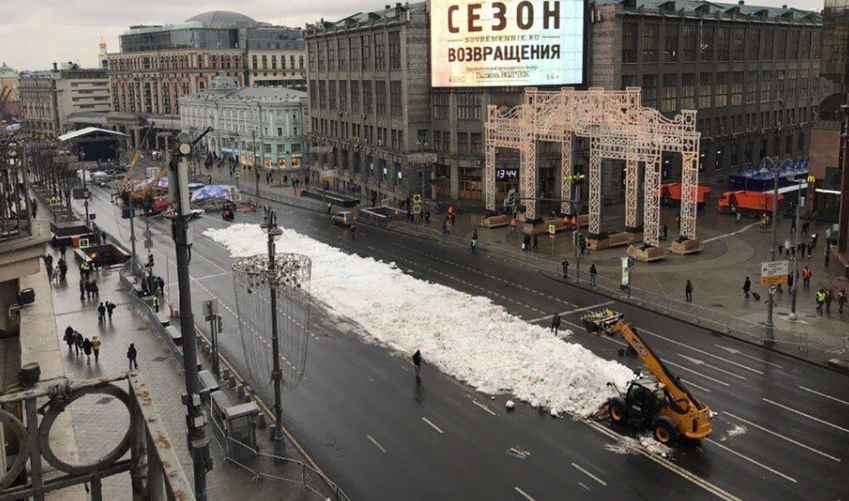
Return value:
[(301, 169), (307, 154), (306, 93), (282, 87), (239, 87), (216, 76), (209, 88), (180, 98), (183, 130), (203, 139), (205, 150), (246, 166)]

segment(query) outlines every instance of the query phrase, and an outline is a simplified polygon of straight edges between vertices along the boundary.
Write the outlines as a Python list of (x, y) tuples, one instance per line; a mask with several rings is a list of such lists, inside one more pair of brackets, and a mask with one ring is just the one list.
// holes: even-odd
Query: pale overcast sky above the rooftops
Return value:
[[(233, 10), (255, 20), (303, 26), (320, 18), (338, 20), (383, 8), (389, 0), (2, 0), (0, 61), (16, 70), (47, 70), (53, 61), (98, 64), (98, 42), (118, 50), (129, 25), (166, 24), (209, 10)], [(17, 3), (20, 8), (11, 8)], [(731, 2), (729, 2), (731, 3)], [(823, 0), (757, 0), (748, 4), (819, 10)]]

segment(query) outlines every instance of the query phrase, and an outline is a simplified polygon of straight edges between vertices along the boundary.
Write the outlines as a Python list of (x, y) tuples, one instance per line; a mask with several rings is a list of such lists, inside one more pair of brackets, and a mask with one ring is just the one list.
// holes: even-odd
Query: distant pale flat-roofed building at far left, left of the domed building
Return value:
[(106, 70), (67, 63), (62, 69), (53, 64), (53, 70), (23, 73), (20, 109), (26, 132), (46, 138), (68, 132), (71, 114), (111, 110)]

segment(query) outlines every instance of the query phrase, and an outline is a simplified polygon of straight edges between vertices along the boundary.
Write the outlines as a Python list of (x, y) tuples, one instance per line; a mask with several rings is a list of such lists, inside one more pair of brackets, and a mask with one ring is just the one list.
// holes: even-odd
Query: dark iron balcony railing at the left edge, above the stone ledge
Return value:
[(0, 241), (31, 234), (23, 147), (16, 139), (0, 141)]

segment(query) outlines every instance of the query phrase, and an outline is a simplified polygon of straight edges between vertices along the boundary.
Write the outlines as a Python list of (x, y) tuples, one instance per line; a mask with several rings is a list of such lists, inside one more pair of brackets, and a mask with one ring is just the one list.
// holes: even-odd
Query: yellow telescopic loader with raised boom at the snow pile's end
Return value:
[(584, 315), (581, 320), (595, 335), (620, 335), (654, 377), (640, 376), (626, 391), (610, 398), (607, 410), (616, 425), (636, 425), (651, 430), (655, 439), (666, 445), (681, 438), (700, 440), (711, 435), (711, 408), (700, 402), (673, 376), (643, 341), (637, 329), (623, 320), (624, 315), (605, 309)]

